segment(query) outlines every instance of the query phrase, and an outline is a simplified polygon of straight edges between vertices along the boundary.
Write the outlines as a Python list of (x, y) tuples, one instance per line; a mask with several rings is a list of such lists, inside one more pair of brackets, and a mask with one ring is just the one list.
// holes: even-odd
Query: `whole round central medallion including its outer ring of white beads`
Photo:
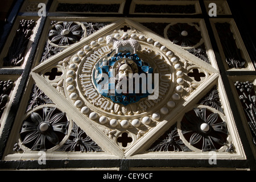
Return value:
[(181, 98), (180, 57), (139, 32), (90, 39), (70, 60), (66, 94), (82, 114), (102, 125), (149, 126)]

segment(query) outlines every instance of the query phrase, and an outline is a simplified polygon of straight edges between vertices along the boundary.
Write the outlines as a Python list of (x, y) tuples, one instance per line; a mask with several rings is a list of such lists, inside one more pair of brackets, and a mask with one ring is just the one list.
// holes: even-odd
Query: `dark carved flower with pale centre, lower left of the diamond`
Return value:
[(56, 107), (43, 107), (23, 121), (20, 130), (22, 144), (31, 150), (46, 151), (67, 135), (69, 121)]

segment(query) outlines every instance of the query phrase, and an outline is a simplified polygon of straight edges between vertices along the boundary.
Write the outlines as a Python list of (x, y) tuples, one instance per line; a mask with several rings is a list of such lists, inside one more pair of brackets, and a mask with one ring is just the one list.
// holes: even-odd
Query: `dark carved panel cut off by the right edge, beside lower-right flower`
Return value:
[(256, 96), (253, 83), (236, 81), (235, 84), (243, 110), (246, 113), (248, 125), (253, 135), (253, 143), (256, 146)]

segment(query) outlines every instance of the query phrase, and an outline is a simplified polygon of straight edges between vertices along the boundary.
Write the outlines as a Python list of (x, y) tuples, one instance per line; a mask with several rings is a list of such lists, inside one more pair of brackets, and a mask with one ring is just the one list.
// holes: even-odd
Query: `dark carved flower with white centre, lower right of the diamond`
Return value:
[(185, 113), (181, 121), (182, 134), (189, 143), (202, 151), (216, 151), (226, 145), (226, 123), (206, 108), (195, 108)]

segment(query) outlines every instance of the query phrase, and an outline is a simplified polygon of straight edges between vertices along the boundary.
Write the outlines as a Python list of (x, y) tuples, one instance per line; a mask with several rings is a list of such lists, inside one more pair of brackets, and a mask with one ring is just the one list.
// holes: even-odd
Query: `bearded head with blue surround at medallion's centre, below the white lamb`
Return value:
[(153, 69), (137, 54), (115, 53), (110, 59), (98, 61), (95, 69), (93, 78), (98, 92), (115, 103), (126, 106), (149, 96), (154, 90)]

